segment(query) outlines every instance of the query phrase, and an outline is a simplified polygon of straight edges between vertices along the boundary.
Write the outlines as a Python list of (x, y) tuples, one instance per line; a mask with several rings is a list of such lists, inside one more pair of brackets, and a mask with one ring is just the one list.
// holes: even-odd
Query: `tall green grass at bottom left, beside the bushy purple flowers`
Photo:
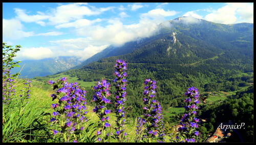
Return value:
[[(20, 90), (25, 87), (23, 83), (24, 80), (17, 80), (16, 100)], [(5, 117), (3, 118), (5, 119), (5, 124), (3, 125), (4, 142), (38, 142), (39, 140), (47, 141), (49, 139), (49, 117), (44, 113), (50, 111), (50, 91), (37, 86), (33, 86), (30, 90), (31, 98), (25, 100), (25, 106), (17, 106), (15, 108), (15, 105), (21, 104), (13, 101), (15, 104), (10, 104), (9, 107), (5, 108), (9, 111), (4, 114)]]

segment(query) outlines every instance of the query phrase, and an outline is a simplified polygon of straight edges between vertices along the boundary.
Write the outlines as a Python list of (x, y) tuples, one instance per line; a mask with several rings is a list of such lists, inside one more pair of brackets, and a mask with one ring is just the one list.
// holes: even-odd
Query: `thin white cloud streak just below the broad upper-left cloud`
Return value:
[(91, 24), (94, 24), (96, 22), (100, 22), (102, 21), (102, 19), (95, 19), (95, 20), (88, 20), (88, 19), (78, 19), (74, 22), (70, 22), (70, 23), (63, 23), (63, 24), (59, 24), (56, 25), (56, 28), (66, 28), (66, 27), (82, 27), (82, 26), (89, 26)]

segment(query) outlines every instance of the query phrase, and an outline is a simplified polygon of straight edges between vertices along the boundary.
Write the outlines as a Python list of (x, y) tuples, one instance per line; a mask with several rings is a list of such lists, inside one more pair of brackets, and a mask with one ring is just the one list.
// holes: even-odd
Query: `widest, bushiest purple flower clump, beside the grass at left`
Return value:
[[(86, 98), (84, 98), (86, 91), (80, 89), (77, 83), (69, 83), (66, 80), (66, 77), (62, 77), (55, 82), (49, 81), (55, 91), (51, 97), (53, 100), (58, 99), (58, 104), (52, 104), (54, 118), (51, 118), (50, 122), (61, 128), (61, 135), (70, 136), (83, 130), (82, 124), (87, 121), (87, 117), (83, 116), (86, 114)], [(54, 131), (54, 134), (56, 133), (57, 131)], [(77, 139), (80, 139), (80, 137), (70, 137), (66, 140), (61, 139), (61, 141), (77, 142)]]

